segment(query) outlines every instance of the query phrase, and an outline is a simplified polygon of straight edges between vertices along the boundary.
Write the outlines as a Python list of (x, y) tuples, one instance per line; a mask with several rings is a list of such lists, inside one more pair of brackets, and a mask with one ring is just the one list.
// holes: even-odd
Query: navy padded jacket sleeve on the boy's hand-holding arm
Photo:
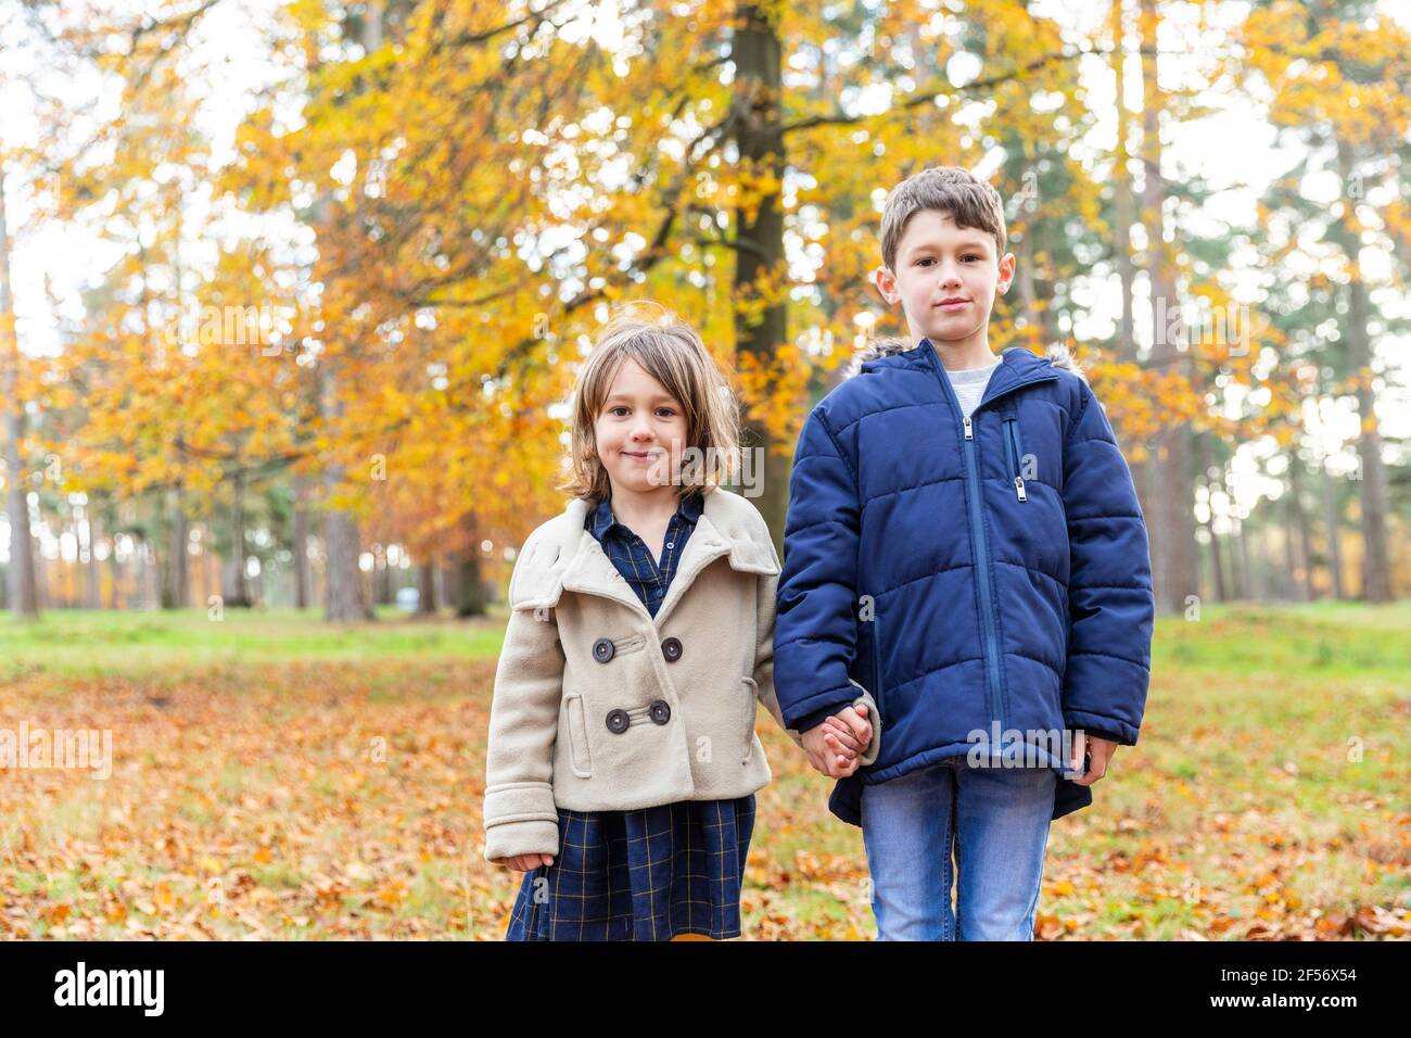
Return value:
[[(775, 693), (794, 724), (827, 710), (866, 703), (872, 741), (882, 747), (882, 716), (871, 693), (848, 675), (856, 652), (858, 482), (823, 411), (804, 421), (789, 477), (785, 565), (775, 621)], [(817, 722), (816, 722), (817, 723)]]

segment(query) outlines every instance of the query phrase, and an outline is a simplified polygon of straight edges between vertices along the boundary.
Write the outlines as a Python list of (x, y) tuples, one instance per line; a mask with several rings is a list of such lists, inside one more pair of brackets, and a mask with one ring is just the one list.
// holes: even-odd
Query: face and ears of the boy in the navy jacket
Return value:
[(902, 304), (913, 339), (988, 350), (989, 314), (1015, 277), (1013, 253), (995, 258), (993, 234), (958, 227), (951, 213), (923, 209), (906, 225), (896, 270), (878, 267), (876, 285), (888, 304)]

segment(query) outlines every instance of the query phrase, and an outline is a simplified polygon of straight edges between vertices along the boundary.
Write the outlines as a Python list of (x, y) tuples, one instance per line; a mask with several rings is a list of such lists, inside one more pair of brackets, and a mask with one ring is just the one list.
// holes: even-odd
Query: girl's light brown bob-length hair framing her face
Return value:
[(569, 472), (559, 490), (600, 501), (611, 497), (594, 424), (629, 359), (680, 401), (686, 446), (701, 452), (698, 463), (683, 459), (677, 496), (694, 487), (708, 494), (731, 482), (739, 467), (739, 402), (696, 329), (659, 302), (642, 299), (611, 315), (579, 371), (569, 405)]

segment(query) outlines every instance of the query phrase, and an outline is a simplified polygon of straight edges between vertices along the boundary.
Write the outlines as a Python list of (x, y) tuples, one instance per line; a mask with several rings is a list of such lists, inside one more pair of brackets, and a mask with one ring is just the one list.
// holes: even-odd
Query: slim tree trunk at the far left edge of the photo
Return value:
[(40, 587), (35, 579), (34, 541), (30, 535), (30, 501), (25, 493), (20, 439), (24, 436), (24, 405), (18, 398), (20, 339), (14, 328), (14, 297), (10, 287), (10, 225), (4, 206), (6, 168), (0, 161), (0, 408), (4, 410), (6, 508), (10, 514), (10, 566), (7, 597), (10, 612), (25, 620), (40, 616)]

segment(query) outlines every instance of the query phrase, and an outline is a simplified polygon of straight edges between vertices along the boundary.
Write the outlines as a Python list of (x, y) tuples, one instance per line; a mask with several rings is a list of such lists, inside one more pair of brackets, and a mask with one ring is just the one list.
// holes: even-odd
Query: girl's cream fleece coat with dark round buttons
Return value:
[[(714, 490), (653, 619), (577, 499), (536, 528), (509, 579), (485, 757), (485, 857), (559, 853), (559, 808), (732, 799), (769, 782), (755, 734), (775, 699), (779, 558), (759, 510)], [(663, 648), (665, 645), (665, 648)], [(876, 760), (882, 717), (866, 703)]]

